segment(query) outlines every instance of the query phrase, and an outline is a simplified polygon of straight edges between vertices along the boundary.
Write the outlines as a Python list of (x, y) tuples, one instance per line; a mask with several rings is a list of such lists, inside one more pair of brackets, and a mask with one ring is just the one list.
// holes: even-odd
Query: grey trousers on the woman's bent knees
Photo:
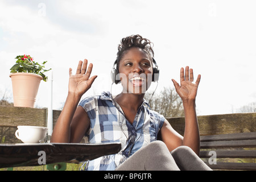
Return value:
[(162, 141), (151, 142), (116, 168), (117, 171), (212, 171), (187, 146), (169, 151)]

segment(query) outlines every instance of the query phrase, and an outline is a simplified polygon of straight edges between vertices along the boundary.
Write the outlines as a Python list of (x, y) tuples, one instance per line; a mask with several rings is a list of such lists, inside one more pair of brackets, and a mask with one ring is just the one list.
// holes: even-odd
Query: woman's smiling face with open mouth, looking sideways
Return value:
[(145, 93), (152, 81), (150, 56), (141, 48), (129, 49), (119, 62), (119, 77), (123, 93)]

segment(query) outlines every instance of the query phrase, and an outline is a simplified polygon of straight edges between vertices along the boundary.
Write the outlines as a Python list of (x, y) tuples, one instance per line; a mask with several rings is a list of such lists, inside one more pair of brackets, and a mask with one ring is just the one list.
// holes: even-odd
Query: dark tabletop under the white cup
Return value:
[(0, 144), (0, 167), (40, 166), (42, 164), (39, 164), (38, 160), (44, 156), (46, 157), (46, 164), (79, 163), (103, 155), (116, 154), (120, 150), (121, 143)]

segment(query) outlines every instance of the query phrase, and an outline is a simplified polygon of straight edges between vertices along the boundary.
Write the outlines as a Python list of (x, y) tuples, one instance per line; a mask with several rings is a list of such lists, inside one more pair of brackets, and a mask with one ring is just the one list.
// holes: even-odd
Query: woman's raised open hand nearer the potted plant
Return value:
[[(79, 65), (76, 69), (76, 74), (72, 75), (72, 69), (69, 68), (69, 84), (68, 84), (68, 92), (75, 93), (79, 96), (82, 96), (89, 88), (92, 86), (93, 81), (97, 77), (90, 77), (90, 73), (92, 73), (93, 64), (90, 63), (87, 69), (88, 60), (79, 61)], [(86, 71), (87, 69), (87, 71)]]

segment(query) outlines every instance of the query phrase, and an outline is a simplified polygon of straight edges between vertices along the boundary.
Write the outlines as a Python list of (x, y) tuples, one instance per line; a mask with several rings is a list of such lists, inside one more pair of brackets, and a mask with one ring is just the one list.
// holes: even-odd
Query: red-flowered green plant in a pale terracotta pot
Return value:
[(11, 67), (11, 81), (13, 85), (14, 106), (34, 107), (40, 81), (47, 81), (44, 72), (44, 61), (42, 65), (35, 63), (30, 55), (16, 56), (16, 64)]

